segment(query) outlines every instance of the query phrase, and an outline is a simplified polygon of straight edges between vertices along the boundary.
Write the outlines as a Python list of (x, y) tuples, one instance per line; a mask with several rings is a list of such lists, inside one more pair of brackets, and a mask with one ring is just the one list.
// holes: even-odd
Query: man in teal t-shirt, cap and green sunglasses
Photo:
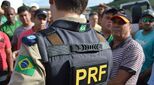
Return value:
[(135, 40), (143, 47), (145, 54), (145, 62), (138, 79), (138, 85), (147, 85), (154, 62), (154, 11), (146, 10), (143, 12), (141, 20), (143, 29), (139, 30), (134, 36)]

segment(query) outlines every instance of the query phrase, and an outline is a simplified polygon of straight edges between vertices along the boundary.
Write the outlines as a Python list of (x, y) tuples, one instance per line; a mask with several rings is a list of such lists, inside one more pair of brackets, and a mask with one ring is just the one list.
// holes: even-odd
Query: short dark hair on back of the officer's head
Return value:
[(81, 14), (85, 10), (88, 0), (55, 0), (55, 3), (58, 10)]

